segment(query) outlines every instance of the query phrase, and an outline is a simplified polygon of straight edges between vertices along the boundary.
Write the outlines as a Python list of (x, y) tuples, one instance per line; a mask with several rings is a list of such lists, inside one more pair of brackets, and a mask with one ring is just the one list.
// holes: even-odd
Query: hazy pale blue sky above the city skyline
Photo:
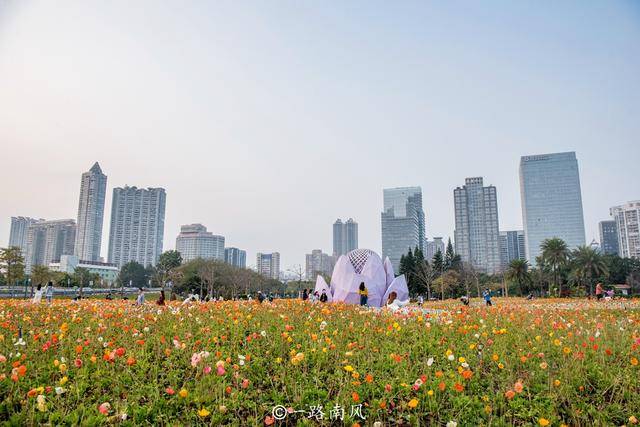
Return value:
[(521, 155), (576, 151), (587, 241), (640, 198), (640, 2), (0, 0), (0, 245), (75, 218), (80, 175), (167, 190), (165, 249), (380, 251), (382, 189), (421, 186), (429, 237), (483, 176), (521, 228)]

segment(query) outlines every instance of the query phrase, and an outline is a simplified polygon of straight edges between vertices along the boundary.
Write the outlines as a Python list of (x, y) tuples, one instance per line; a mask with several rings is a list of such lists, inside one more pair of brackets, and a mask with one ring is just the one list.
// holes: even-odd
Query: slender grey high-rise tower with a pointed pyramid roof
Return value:
[(75, 254), (80, 260), (99, 261), (102, 245), (102, 223), (104, 219), (104, 196), (107, 191), (107, 176), (98, 162), (82, 174), (80, 201), (78, 203), (78, 231)]

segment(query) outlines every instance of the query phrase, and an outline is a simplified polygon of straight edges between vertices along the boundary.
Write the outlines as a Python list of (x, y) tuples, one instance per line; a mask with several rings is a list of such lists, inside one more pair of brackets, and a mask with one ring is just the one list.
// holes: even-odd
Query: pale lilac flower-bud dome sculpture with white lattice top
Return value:
[(364, 282), (369, 291), (367, 304), (371, 307), (384, 306), (391, 292), (395, 292), (400, 301), (409, 299), (404, 275), (395, 277), (389, 258), (383, 263), (378, 254), (369, 249), (355, 249), (341, 255), (333, 268), (331, 284), (318, 276), (315, 290), (318, 294), (325, 290), (330, 302), (359, 304), (358, 287), (361, 282)]

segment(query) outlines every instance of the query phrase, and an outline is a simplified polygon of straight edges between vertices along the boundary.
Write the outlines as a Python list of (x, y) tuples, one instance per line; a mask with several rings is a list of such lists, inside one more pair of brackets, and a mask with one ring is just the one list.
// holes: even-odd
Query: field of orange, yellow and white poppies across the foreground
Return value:
[(495, 302), (3, 300), (0, 422), (638, 423), (638, 301)]

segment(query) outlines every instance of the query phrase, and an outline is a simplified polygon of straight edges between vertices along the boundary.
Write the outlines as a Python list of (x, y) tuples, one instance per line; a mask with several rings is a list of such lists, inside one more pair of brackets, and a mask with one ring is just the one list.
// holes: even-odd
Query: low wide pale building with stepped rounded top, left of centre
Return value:
[(184, 261), (196, 258), (225, 260), (224, 236), (216, 236), (202, 224), (180, 227), (180, 234), (176, 237), (176, 250)]

